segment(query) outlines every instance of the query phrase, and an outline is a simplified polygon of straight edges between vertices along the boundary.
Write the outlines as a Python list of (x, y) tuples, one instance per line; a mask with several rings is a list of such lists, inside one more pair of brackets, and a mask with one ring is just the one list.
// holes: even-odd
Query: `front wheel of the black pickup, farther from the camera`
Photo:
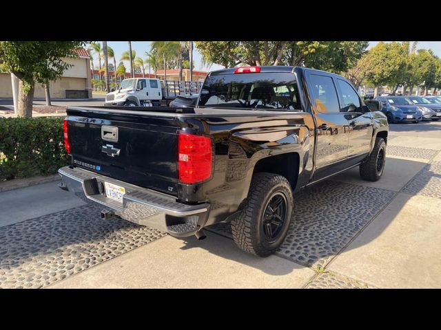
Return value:
[(378, 181), (383, 173), (385, 163), (386, 142), (382, 137), (377, 137), (371, 155), (360, 164), (360, 177), (367, 181)]

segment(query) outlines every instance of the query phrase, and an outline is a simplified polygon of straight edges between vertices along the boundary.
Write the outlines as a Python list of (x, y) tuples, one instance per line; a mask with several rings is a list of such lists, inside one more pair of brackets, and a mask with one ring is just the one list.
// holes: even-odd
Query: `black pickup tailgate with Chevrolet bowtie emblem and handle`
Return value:
[(68, 108), (68, 136), (74, 166), (152, 188), (177, 190), (176, 115)]

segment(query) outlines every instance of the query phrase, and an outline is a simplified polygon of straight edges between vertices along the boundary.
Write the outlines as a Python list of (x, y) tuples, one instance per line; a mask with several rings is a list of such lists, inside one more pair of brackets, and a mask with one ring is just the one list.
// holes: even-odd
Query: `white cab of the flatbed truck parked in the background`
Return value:
[(105, 106), (151, 107), (162, 100), (161, 81), (156, 78), (124, 79), (121, 87), (105, 96)]

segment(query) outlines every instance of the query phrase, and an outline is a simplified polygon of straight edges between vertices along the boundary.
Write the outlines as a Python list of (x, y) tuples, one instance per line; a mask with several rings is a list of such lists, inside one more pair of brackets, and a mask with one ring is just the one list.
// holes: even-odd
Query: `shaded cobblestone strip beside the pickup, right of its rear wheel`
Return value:
[[(278, 255), (301, 265), (325, 267), (395, 196), (378, 188), (324, 181), (294, 197), (294, 217)], [(232, 237), (227, 223), (209, 228)]]

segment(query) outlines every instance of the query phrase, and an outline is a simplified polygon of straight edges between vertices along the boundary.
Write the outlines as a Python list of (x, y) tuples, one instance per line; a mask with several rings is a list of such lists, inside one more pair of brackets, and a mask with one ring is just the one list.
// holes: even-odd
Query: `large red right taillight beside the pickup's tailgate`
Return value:
[(196, 184), (212, 175), (212, 140), (192, 134), (178, 135), (178, 178)]

